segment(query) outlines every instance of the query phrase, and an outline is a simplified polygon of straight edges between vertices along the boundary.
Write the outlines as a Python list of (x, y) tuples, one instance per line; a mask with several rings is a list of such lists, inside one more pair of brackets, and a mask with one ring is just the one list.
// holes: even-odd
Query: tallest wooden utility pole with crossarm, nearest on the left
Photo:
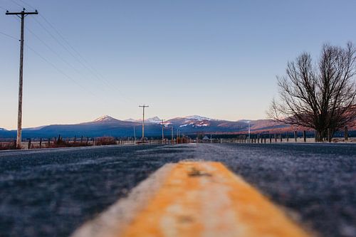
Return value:
[(23, 91), (23, 31), (25, 28), (25, 16), (27, 15), (37, 15), (38, 11), (25, 12), (23, 9), (21, 12), (9, 12), (6, 11), (6, 15), (16, 15), (21, 19), (21, 40), (20, 40), (20, 71), (19, 71), (19, 110), (17, 114), (17, 138), (16, 147), (21, 149), (21, 130), (22, 130), (22, 91)]

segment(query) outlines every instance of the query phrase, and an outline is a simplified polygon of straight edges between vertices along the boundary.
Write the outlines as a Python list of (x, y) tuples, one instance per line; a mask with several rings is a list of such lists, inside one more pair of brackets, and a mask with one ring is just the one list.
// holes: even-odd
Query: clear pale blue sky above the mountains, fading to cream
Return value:
[(354, 0), (0, 0), (6, 129), (16, 128), (19, 41), (1, 33), (19, 38), (4, 9), (21, 6), (39, 12), (25, 23), (23, 127), (140, 118), (143, 103), (163, 119), (266, 118), (288, 60), (356, 38)]

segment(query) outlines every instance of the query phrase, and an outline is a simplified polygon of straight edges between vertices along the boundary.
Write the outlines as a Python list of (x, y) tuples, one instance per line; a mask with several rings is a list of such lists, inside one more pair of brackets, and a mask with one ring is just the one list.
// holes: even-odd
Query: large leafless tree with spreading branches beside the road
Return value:
[[(323, 46), (318, 63), (309, 53), (289, 62), (286, 75), (277, 77), (279, 100), (268, 116), (279, 122), (316, 130), (317, 140), (356, 120), (356, 49)], [(328, 132), (329, 130), (329, 132)]]

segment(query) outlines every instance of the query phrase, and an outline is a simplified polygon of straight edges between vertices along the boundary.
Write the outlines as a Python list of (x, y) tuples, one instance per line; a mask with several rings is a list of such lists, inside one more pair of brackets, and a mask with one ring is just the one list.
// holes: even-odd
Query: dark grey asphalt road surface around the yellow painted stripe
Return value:
[(0, 152), (0, 236), (68, 236), (168, 162), (223, 162), (320, 236), (356, 236), (355, 144)]

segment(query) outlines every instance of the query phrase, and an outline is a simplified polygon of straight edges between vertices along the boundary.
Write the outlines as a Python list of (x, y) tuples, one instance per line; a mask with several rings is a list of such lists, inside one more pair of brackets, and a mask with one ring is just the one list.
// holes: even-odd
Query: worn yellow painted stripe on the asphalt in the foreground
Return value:
[(155, 191), (139, 191), (138, 196), (148, 196), (145, 204), (134, 201), (130, 205), (140, 207), (115, 218), (120, 228), (107, 226), (102, 232), (103, 223), (93, 221), (89, 226), (94, 224), (95, 233), (86, 236), (309, 236), (219, 162), (179, 162), (159, 172)]

